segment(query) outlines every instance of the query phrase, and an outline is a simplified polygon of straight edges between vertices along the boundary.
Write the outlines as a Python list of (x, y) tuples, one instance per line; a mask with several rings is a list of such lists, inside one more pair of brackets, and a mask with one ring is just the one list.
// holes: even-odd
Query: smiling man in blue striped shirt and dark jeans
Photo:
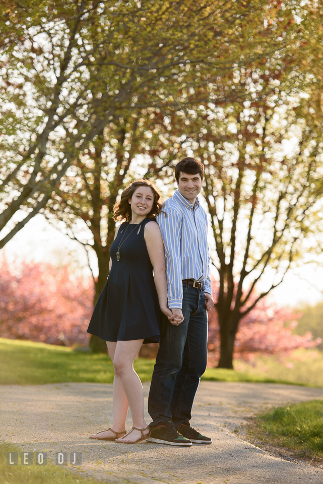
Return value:
[(178, 190), (156, 220), (165, 246), (168, 307), (162, 318), (160, 348), (149, 392), (153, 419), (148, 442), (191, 446), (212, 440), (190, 426), (191, 408), (207, 365), (207, 310), (213, 308), (209, 277), (207, 215), (197, 198), (204, 165), (184, 158), (175, 167)]

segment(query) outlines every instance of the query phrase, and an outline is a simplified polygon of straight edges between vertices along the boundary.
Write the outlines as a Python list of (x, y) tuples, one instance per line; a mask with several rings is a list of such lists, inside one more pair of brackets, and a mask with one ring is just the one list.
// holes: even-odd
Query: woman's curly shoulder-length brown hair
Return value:
[(156, 213), (162, 211), (161, 203), (159, 202), (160, 193), (158, 192), (157, 188), (152, 181), (142, 178), (141, 180), (133, 181), (133, 183), (128, 185), (123, 190), (123, 192), (121, 193), (121, 199), (113, 206), (113, 220), (125, 220), (126, 222), (129, 222), (131, 220), (132, 211), (128, 200), (132, 198), (137, 188), (139, 187), (149, 187), (154, 195), (153, 207), (147, 217), (155, 218)]

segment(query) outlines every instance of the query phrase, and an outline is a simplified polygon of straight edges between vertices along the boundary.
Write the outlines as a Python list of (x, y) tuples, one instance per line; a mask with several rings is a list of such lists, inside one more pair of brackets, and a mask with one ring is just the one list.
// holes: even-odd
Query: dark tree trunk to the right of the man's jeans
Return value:
[(217, 368), (233, 370), (234, 340), (238, 328), (239, 319), (235, 320), (232, 315), (219, 314), (220, 325), (220, 360)]

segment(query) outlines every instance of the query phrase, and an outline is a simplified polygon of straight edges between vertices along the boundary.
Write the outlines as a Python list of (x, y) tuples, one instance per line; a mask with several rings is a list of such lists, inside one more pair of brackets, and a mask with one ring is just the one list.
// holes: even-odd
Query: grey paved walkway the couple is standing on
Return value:
[[(144, 384), (144, 390), (147, 397), (149, 384)], [(88, 439), (90, 434), (111, 425), (111, 385), (2, 386), (0, 434), (24, 451), (47, 451), (53, 459), (55, 452), (80, 451), (79, 472), (113, 484), (322, 484), (323, 469), (273, 457), (233, 433), (246, 416), (266, 405), (314, 398), (323, 398), (323, 390), (202, 382), (192, 425), (210, 435), (213, 444), (173, 448), (147, 442), (122, 445)], [(131, 421), (127, 424), (130, 428)]]

